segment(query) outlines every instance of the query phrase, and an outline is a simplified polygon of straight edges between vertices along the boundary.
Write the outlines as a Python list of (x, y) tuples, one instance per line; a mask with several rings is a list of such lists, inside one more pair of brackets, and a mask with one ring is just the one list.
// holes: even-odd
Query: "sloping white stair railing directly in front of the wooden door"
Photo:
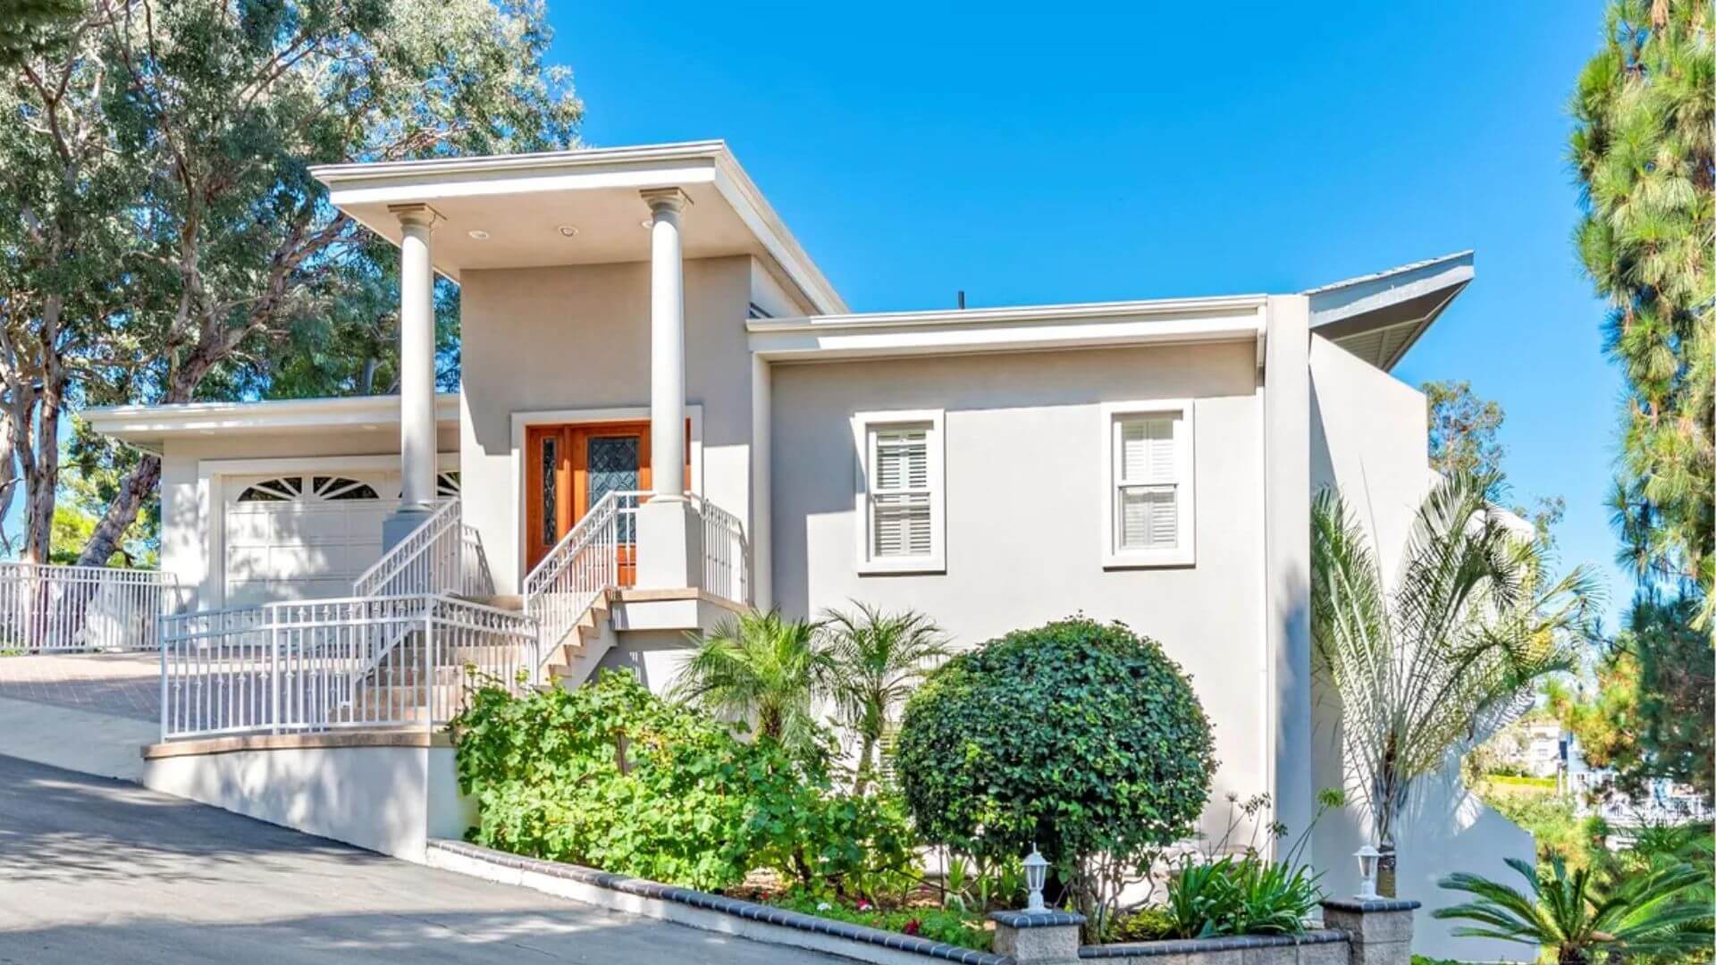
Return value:
[(649, 493), (607, 493), (525, 577), (525, 613), (537, 622), (544, 659), (604, 591), (631, 582), (637, 508)]

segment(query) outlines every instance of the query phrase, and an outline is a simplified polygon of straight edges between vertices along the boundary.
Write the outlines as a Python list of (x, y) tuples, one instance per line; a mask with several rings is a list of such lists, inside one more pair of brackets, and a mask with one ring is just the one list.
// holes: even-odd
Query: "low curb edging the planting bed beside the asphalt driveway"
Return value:
[(426, 864), (484, 881), (532, 888), (614, 912), (630, 912), (695, 929), (877, 965), (923, 965), (927, 960), (963, 965), (1014, 965), (1012, 958), (1006, 955), (819, 919), (692, 888), (609, 874), (594, 867), (527, 859), (465, 841), (431, 840)]

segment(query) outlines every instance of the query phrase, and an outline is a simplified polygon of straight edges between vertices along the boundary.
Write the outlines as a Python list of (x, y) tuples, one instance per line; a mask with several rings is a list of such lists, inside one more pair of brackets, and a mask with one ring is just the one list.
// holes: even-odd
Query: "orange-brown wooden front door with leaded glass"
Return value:
[[(690, 422), (686, 422), (690, 460)], [(607, 493), (649, 491), (649, 422), (578, 422), (525, 431), (525, 568), (542, 556)], [(692, 467), (685, 467), (690, 484)], [(637, 577), (631, 520), (619, 527), (619, 586)]]

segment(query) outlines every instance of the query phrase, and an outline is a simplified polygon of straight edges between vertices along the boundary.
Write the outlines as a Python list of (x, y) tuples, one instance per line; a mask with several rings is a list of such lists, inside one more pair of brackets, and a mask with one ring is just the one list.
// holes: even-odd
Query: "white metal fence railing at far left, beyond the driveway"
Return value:
[(151, 651), (189, 599), (160, 570), (0, 563), (0, 651)]

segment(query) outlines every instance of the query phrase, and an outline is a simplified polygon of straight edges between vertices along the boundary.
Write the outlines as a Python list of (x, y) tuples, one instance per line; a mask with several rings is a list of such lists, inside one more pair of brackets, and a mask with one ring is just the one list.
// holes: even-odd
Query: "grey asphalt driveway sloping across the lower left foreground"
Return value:
[(839, 962), (0, 756), (0, 963)]

